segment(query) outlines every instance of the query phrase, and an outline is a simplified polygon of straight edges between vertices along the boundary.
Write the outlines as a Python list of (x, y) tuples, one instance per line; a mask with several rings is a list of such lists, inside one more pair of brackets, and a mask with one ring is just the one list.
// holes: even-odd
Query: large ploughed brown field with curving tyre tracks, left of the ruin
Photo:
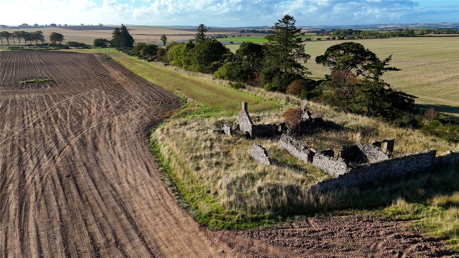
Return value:
[[(146, 130), (179, 107), (178, 98), (103, 57), (1, 52), (1, 257), (329, 257), (327, 247), (305, 244), (304, 234), (284, 238), (298, 246), (273, 241), (272, 232), (200, 227), (178, 207), (146, 151)], [(55, 82), (18, 84), (34, 78)], [(391, 236), (403, 232), (385, 227)], [(410, 248), (378, 244), (375, 257), (387, 245), (395, 257)]]

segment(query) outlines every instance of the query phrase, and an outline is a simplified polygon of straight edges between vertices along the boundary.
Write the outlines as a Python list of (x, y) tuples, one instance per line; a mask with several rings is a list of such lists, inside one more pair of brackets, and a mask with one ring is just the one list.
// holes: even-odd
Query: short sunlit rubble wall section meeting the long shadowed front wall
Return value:
[(344, 159), (333, 157), (333, 152), (330, 155), (329, 150), (317, 151), (313, 158), (313, 165), (332, 176), (345, 174), (350, 169)]

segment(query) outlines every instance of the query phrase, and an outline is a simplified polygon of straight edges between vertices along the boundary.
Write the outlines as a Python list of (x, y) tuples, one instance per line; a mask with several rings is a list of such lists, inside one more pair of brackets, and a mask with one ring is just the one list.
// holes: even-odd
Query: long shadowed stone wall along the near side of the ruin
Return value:
[[(437, 150), (430, 149), (423, 152), (405, 155), (355, 166), (349, 172), (335, 178), (322, 179), (311, 186), (311, 191), (326, 191), (343, 186), (353, 186), (369, 183), (375, 180), (390, 177), (419, 173), (431, 170), (436, 163)], [(314, 161), (321, 155), (316, 154)]]

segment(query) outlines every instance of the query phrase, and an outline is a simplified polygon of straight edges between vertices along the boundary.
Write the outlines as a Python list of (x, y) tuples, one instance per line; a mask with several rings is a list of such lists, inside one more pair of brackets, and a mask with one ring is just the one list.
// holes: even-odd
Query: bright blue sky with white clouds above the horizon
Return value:
[(0, 0), (0, 24), (272, 26), (459, 22), (459, 0)]

